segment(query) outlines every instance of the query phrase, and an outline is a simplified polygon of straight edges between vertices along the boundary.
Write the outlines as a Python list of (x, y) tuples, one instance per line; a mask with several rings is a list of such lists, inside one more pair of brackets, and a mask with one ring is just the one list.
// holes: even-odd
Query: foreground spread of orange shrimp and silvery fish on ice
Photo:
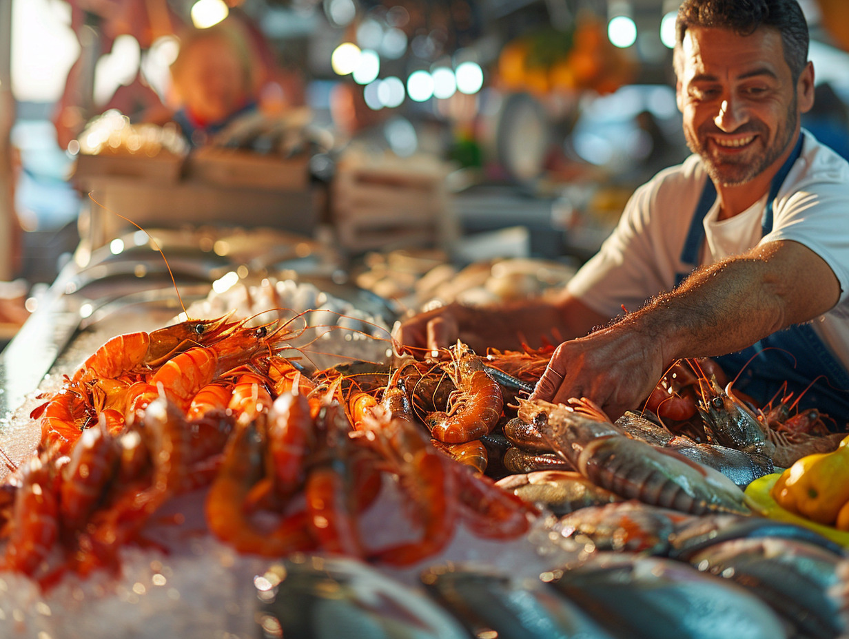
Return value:
[(412, 356), (293, 290), (109, 336), (38, 394), (37, 450), (0, 485), (0, 591), (53, 612), (0, 596), (3, 636), (76, 637), (74, 597), (155, 593), (192, 548), (239, 575), (232, 636), (849, 636), (844, 547), (744, 493), (835, 450), (823, 416), (695, 362), (614, 423), (528, 399), (548, 346)]

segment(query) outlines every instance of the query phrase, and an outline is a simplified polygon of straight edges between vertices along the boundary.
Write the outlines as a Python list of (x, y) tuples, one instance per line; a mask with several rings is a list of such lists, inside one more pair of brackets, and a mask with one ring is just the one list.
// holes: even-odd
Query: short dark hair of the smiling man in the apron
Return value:
[(809, 36), (805, 14), (796, 0), (684, 0), (675, 22), (675, 70), (680, 70), (684, 34), (691, 26), (732, 29), (741, 36), (761, 26), (778, 29), (784, 44), (784, 60), (793, 82), (807, 64)]

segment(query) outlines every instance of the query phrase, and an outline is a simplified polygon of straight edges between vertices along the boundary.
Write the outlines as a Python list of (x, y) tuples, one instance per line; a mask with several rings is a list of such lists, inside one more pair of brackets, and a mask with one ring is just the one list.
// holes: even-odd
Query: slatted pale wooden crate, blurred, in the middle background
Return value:
[(337, 165), (331, 198), (340, 247), (449, 249), (458, 225), (447, 173), (446, 164), (428, 156), (347, 154)]

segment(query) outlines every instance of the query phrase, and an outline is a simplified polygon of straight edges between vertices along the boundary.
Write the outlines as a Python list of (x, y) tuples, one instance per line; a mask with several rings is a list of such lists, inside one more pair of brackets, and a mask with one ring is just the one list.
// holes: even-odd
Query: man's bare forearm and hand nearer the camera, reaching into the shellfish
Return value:
[(531, 397), (586, 396), (616, 419), (638, 407), (675, 360), (746, 348), (828, 311), (839, 295), (834, 272), (811, 249), (762, 244), (701, 268), (609, 328), (559, 345)]

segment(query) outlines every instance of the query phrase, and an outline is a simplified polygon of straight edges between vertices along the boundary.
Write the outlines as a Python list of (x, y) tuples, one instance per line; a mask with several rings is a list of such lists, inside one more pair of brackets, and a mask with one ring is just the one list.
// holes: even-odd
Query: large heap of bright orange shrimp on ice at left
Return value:
[[(277, 354), (283, 329), (183, 322), (89, 357), (33, 411), (39, 450), (0, 485), (0, 570), (45, 588), (69, 572), (117, 574), (121, 548), (150, 544), (145, 524), (195, 490), (212, 535), (263, 557), (338, 552), (404, 567), (460, 524), (496, 540), (528, 530), (536, 508), (437, 449), (393, 412), (391, 392), (355, 427), (340, 379)], [(500, 395), (489, 412), (500, 416)], [(380, 541), (363, 513), (393, 491), (405, 507), (381, 526), (398, 534)]]

